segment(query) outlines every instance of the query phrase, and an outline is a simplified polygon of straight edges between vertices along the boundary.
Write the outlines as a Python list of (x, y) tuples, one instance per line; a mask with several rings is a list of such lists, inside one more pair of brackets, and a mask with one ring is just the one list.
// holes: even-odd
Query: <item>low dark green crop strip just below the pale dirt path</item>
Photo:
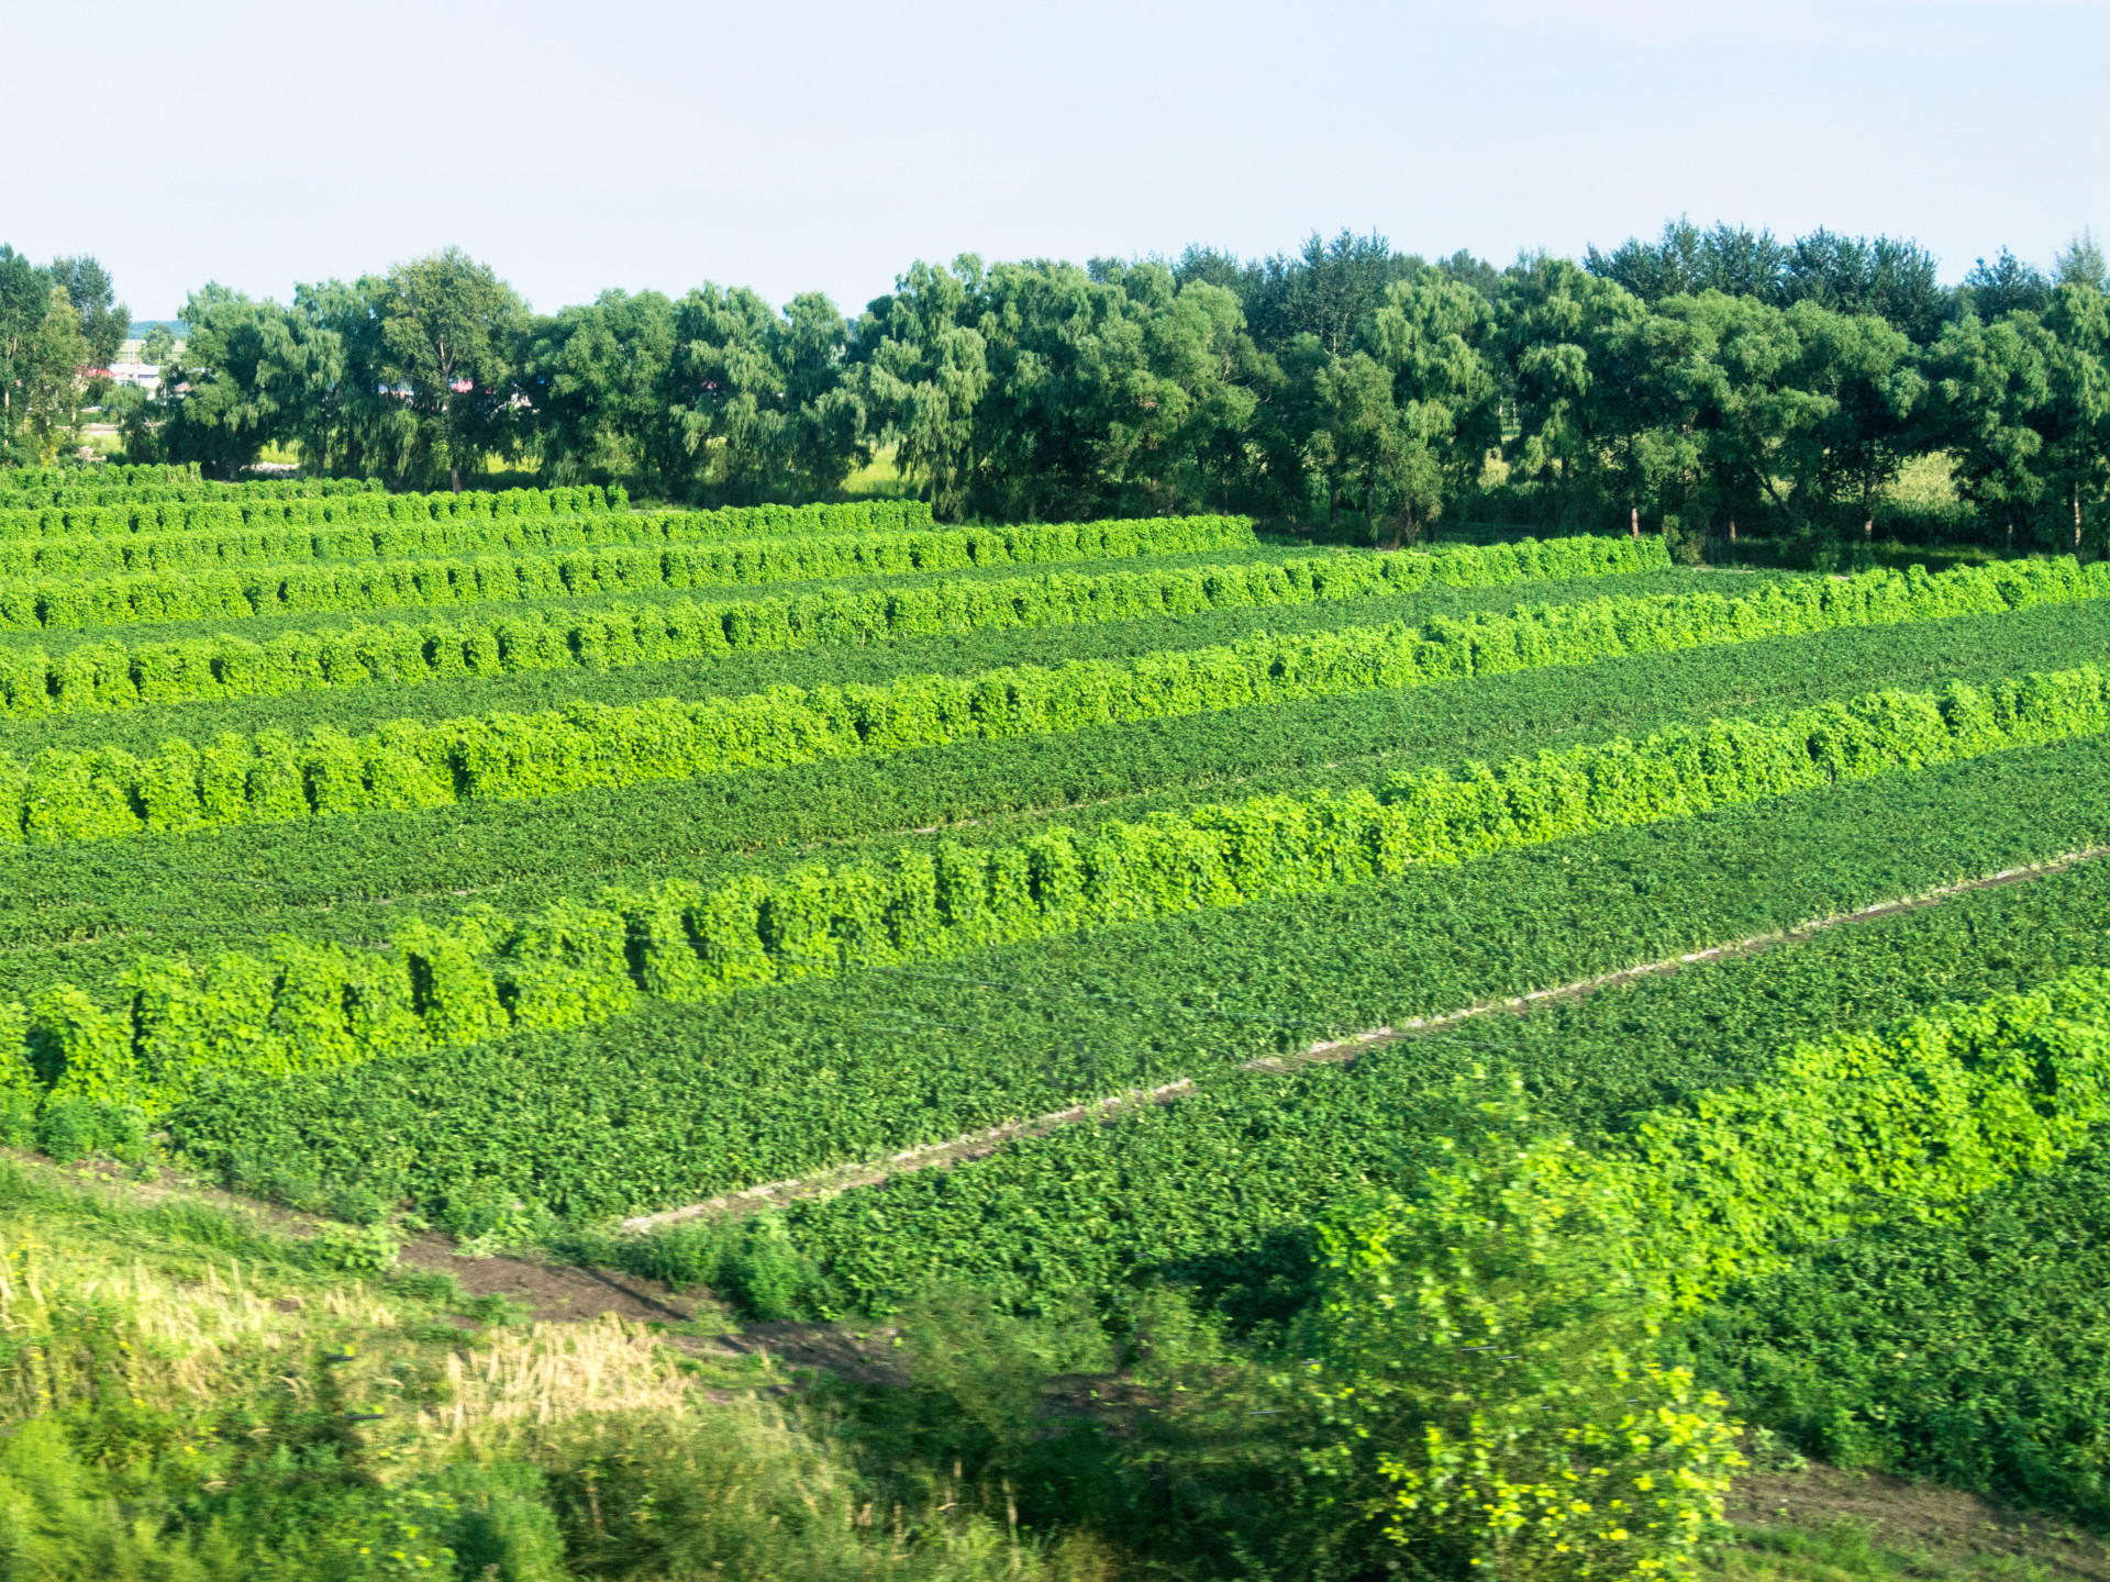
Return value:
[[(1462, 1023), (1346, 1065), (1201, 1069), (1177, 1103), (802, 1200), (783, 1226), (812, 1266), (808, 1299), (833, 1310), (886, 1312), (928, 1280), (973, 1285), (1019, 1310), (1059, 1308), (1076, 1291), (1118, 1301), (1154, 1276), (1255, 1318), (1298, 1306), (1317, 1221), (1374, 1185), (1405, 1183), (1431, 1139), (1473, 1122), (1458, 1097), (1475, 1072), (1523, 1082), (1545, 1126), (1620, 1135), (1633, 1112), (1692, 1105), (1694, 1091), (1764, 1093), (1798, 1042), (1829, 1034), (1831, 1050), (1853, 1048), (1848, 1034), (1926, 1015), (1941, 998), (2013, 993), (2076, 964), (2110, 966), (2110, 865), (1850, 924), (1523, 1019)], [(1882, 1046), (1895, 1057), (1897, 1040)], [(1464, 1097), (1481, 1095), (1464, 1086)], [(1722, 1114), (1711, 1103), (1692, 1110)], [(1907, 1122), (1903, 1135), (1914, 1135), (1922, 1116)], [(709, 1282), (726, 1238), (696, 1228), (654, 1242), (631, 1257)]]

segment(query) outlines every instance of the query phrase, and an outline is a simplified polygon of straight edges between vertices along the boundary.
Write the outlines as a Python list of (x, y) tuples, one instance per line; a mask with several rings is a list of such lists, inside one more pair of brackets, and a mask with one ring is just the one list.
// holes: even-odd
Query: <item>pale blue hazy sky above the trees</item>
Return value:
[[(540, 312), (914, 259), (2110, 230), (2110, 0), (15, 8), (0, 243), (137, 319), (458, 245)], [(42, 70), (23, 70), (44, 61)], [(27, 150), (23, 150), (27, 141)]]

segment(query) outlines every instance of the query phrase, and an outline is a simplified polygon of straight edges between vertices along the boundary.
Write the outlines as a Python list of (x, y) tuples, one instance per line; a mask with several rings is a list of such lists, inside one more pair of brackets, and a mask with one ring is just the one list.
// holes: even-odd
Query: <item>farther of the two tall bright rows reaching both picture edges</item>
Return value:
[(397, 719), (357, 738), (338, 730), (298, 742), (283, 732), (224, 734), (205, 751), (169, 738), (148, 761), (110, 747), (46, 749), (27, 774), (0, 755), (0, 842), (11, 829), (17, 840), (57, 844), (146, 829), (546, 797), (1418, 688), (1620, 654), (2007, 612), (2102, 593), (2110, 593), (2104, 563), (2093, 572), (2072, 561), (1956, 567), (1939, 576), (1872, 572), (1846, 582), (1777, 582), (1743, 597), (1614, 597), (1426, 626), (1260, 633), (1232, 645), (1072, 660), (1059, 669), (909, 675), (888, 686), (779, 686), (701, 702), (580, 700), (534, 715)]

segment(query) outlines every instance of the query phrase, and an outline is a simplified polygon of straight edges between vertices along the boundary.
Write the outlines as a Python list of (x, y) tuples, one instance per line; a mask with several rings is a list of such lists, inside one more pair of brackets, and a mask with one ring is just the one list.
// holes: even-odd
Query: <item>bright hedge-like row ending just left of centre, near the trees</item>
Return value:
[[(825, 513), (825, 515), (823, 515)], [(143, 532), (101, 538), (0, 538), (4, 576), (89, 576), (188, 572), (224, 565), (298, 561), (405, 559), (416, 555), (479, 555), (487, 551), (601, 548), (612, 544), (690, 544), (732, 538), (821, 534), (899, 534), (916, 513), (895, 502), (878, 506), (812, 506), (798, 513), (724, 510), (587, 510), (519, 517), (401, 517), (331, 525), (274, 525), (253, 513), (247, 527)], [(928, 523), (922, 523), (928, 532)]]

